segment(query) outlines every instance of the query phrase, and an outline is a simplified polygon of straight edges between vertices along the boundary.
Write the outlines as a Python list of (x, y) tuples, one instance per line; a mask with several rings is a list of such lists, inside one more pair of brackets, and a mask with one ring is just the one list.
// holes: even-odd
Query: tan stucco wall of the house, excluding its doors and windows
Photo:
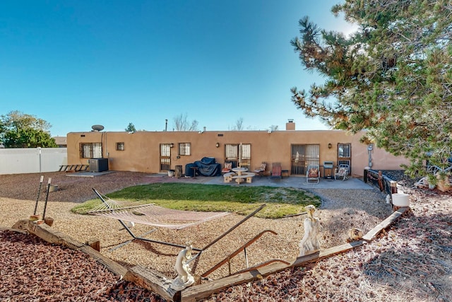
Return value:
[[(221, 135), (222, 136), (219, 136)], [(340, 130), (313, 131), (206, 131), (198, 132), (71, 132), (67, 135), (68, 163), (88, 164), (87, 158), (80, 158), (81, 143), (102, 142), (104, 158), (109, 159), (109, 170), (126, 170), (144, 173), (160, 173), (160, 144), (174, 144), (171, 149), (171, 168), (185, 167), (187, 163), (199, 161), (205, 156), (215, 157), (224, 163), (225, 144), (251, 144), (251, 168), (262, 161), (269, 165), (280, 162), (283, 170), (290, 170), (292, 144), (319, 144), (319, 163), (337, 158), (337, 144), (352, 144), (352, 175), (363, 175), (369, 165), (367, 145), (359, 143), (362, 134), (349, 135)], [(117, 151), (117, 142), (124, 142), (125, 150)], [(177, 158), (177, 144), (190, 143), (191, 155)], [(216, 147), (216, 143), (220, 147)], [(328, 143), (332, 148), (328, 149)], [(405, 158), (392, 156), (381, 149), (371, 153), (374, 169), (400, 169)], [(270, 170), (271, 167), (268, 168)]]

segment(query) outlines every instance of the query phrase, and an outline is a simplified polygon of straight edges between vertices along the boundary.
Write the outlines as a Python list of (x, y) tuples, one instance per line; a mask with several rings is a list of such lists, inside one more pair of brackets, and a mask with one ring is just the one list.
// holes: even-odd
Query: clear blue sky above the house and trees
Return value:
[(290, 40), (309, 16), (350, 33), (333, 0), (0, 1), (0, 115), (52, 124), (52, 136), (198, 128), (326, 129), (304, 117), (290, 88), (323, 79), (303, 69)]

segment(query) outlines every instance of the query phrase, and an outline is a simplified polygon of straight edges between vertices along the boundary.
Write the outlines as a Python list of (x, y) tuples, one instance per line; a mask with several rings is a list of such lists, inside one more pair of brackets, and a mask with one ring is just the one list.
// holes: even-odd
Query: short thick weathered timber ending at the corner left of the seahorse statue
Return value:
[(129, 272), (124, 276), (124, 279), (132, 281), (144, 289), (153, 291), (167, 301), (180, 301), (181, 292), (169, 287), (173, 280), (165, 277), (160, 272), (136, 265), (129, 268)]

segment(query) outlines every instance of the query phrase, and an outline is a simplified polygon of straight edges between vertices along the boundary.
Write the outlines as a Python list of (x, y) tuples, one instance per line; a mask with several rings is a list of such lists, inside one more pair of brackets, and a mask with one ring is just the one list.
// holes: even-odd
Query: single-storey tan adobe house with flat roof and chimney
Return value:
[[(289, 120), (278, 131), (201, 131), (201, 132), (70, 132), (67, 134), (68, 164), (88, 165), (90, 158), (105, 158), (108, 170), (166, 173), (176, 165), (184, 167), (203, 157), (217, 163), (232, 161), (254, 170), (265, 161), (279, 162), (289, 175), (306, 175), (309, 164), (324, 161), (350, 164), (352, 176), (364, 174), (371, 165), (376, 170), (398, 170), (403, 157), (359, 142), (361, 134), (342, 130), (295, 130)], [(323, 169), (321, 169), (323, 177)]]

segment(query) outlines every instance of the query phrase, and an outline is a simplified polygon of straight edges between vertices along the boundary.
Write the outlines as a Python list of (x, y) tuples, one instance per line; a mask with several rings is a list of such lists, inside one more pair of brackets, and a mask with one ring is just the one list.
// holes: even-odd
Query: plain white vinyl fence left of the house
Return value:
[(0, 175), (54, 172), (67, 161), (67, 148), (0, 149)]

